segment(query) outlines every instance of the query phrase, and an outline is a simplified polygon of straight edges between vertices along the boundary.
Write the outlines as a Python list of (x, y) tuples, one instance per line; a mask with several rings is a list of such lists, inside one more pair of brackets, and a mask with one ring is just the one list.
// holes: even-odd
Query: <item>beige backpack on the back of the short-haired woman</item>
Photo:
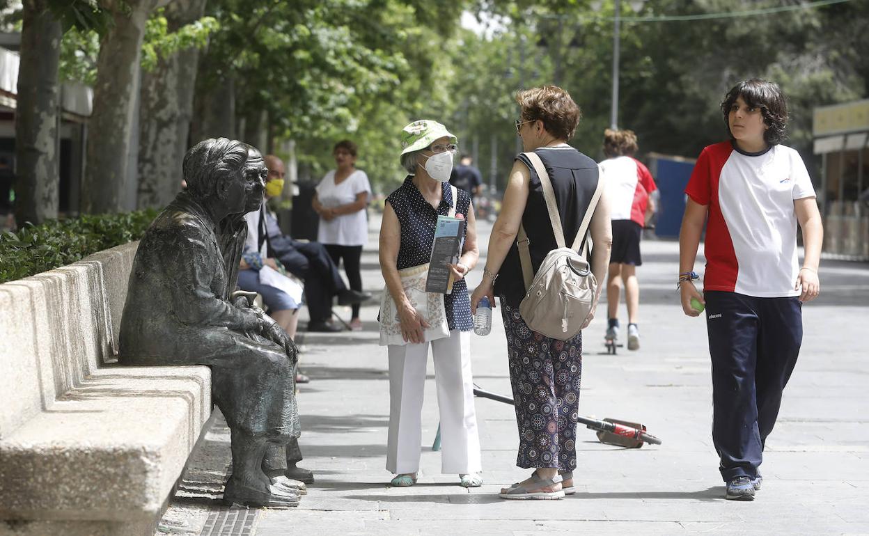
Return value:
[(576, 233), (574, 244), (567, 248), (564, 242), (564, 231), (561, 228), (561, 217), (558, 214), (558, 205), (555, 203), (555, 192), (552, 182), (543, 166), (540, 156), (533, 152), (524, 153), (534, 165), (537, 176), (540, 177), (543, 187), (543, 196), (546, 198), (549, 222), (555, 235), (555, 243), (558, 248), (550, 251), (541, 263), (541, 268), (534, 275), (531, 264), (531, 254), (528, 251), (528, 235), (525, 227), (519, 228), (519, 259), (522, 265), (522, 278), (525, 280), (527, 294), (519, 305), (519, 314), (528, 328), (544, 334), (552, 339), (567, 341), (580, 332), (582, 324), (591, 313), (594, 302), (594, 294), (597, 291), (597, 280), (591, 271), (591, 265), (587, 261), (587, 249), (582, 248), (580, 254), (577, 249), (586, 235), (588, 224), (591, 222), (594, 208), (600, 199), (603, 177), (598, 178), (597, 188), (594, 190), (591, 202), (588, 203), (586, 215), (582, 219), (579, 231)]

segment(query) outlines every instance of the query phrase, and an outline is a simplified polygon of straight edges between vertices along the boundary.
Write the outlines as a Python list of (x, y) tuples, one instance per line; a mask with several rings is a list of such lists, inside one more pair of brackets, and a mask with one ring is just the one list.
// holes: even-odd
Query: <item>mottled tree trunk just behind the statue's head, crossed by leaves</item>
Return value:
[[(202, 17), (206, 0), (176, 0), (166, 7), (169, 31)], [(153, 72), (142, 74), (139, 109), (138, 208), (167, 205), (181, 188), (181, 168), (188, 149), (199, 50), (179, 50), (163, 58)]]

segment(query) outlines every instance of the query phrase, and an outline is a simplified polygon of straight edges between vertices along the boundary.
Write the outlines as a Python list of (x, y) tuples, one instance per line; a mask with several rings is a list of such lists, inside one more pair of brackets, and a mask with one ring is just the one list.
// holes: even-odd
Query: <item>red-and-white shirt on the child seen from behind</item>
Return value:
[(630, 156), (616, 156), (600, 162), (600, 171), (607, 189), (610, 219), (645, 225), (649, 194), (658, 189), (648, 168)]

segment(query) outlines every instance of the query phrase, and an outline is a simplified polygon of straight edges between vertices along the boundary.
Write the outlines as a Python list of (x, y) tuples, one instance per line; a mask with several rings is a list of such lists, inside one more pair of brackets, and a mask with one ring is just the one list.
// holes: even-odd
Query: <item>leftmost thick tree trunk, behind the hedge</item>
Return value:
[(57, 217), (60, 182), (57, 63), (60, 22), (43, 0), (24, 0), (15, 111), (16, 208), (20, 228)]

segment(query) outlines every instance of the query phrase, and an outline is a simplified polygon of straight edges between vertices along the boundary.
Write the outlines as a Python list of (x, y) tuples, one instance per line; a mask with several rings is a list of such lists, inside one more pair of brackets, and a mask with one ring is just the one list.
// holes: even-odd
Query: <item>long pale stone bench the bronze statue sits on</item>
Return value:
[(119, 367), (137, 242), (0, 285), (0, 535), (153, 534), (208, 367)]

